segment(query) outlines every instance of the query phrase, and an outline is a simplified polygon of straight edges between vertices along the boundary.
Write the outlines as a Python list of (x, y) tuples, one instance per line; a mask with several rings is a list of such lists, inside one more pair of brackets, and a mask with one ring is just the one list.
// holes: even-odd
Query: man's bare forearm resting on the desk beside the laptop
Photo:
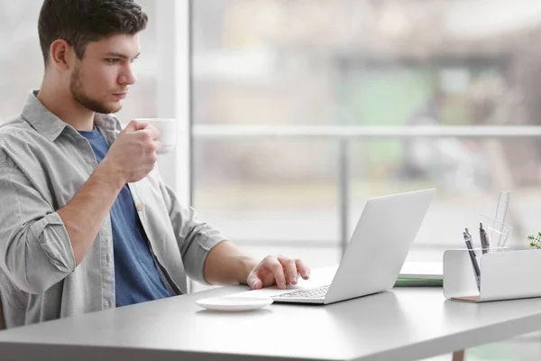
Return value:
[(215, 245), (205, 261), (205, 280), (213, 284), (246, 283), (258, 261), (229, 241)]

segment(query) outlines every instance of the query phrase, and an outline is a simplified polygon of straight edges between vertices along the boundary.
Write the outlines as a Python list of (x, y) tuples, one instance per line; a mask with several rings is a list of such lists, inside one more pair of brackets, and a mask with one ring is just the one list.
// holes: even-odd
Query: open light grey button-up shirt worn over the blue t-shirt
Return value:
[[(7, 328), (115, 308), (110, 218), (76, 267), (56, 212), (88, 180), (96, 157), (87, 139), (36, 95), (0, 127), (0, 300)], [(110, 144), (121, 131), (114, 116), (97, 114), (95, 124)], [(225, 236), (180, 204), (158, 171), (128, 186), (162, 281), (177, 294), (187, 292), (187, 274), (205, 282), (206, 255)]]

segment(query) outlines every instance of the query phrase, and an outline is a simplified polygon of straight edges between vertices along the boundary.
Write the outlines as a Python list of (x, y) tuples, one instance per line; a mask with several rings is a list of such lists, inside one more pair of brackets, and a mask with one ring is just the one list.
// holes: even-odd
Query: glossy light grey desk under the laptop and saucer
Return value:
[(395, 288), (326, 306), (275, 303), (232, 313), (195, 304), (246, 290), (224, 287), (5, 330), (0, 355), (10, 360), (417, 360), (541, 329), (541, 299), (446, 301), (441, 288)]

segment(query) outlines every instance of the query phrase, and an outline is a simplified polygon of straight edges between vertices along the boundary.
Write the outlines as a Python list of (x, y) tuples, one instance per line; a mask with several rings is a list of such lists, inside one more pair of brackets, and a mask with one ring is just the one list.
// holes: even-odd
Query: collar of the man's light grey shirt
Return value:
[[(32, 90), (23, 106), (22, 116), (32, 125), (32, 128), (49, 139), (50, 142), (54, 142), (66, 128), (75, 132), (74, 134), (78, 134), (75, 128), (63, 122), (58, 116), (52, 114), (49, 109), (41, 104), (41, 101), (37, 97), (38, 92), (39, 90)], [(115, 133), (115, 131), (122, 129), (115, 116), (106, 114), (96, 113), (94, 124), (106, 133)], [(82, 136), (80, 134), (78, 135)]]

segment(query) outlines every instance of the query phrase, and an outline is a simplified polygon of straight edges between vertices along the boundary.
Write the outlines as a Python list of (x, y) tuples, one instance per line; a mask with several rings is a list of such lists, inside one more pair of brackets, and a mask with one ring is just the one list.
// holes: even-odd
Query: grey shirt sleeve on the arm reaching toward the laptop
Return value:
[(182, 205), (175, 192), (162, 180), (160, 189), (188, 277), (209, 284), (204, 276), (206, 256), (215, 245), (227, 238), (214, 227), (199, 220), (194, 208)]

